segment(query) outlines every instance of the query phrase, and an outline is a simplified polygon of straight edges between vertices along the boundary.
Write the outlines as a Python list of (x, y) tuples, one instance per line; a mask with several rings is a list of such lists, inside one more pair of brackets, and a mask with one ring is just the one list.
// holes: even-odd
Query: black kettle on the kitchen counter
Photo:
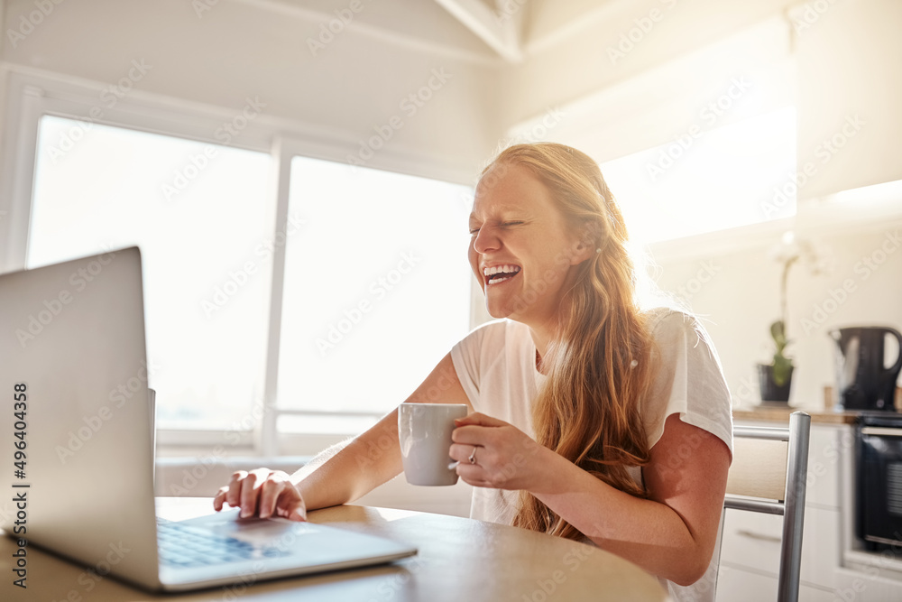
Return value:
[[(844, 410), (895, 412), (896, 378), (902, 369), (902, 334), (888, 327), (835, 329), (827, 333), (836, 341), (836, 385), (838, 404)], [(899, 345), (896, 363), (884, 365), (886, 338)]]

